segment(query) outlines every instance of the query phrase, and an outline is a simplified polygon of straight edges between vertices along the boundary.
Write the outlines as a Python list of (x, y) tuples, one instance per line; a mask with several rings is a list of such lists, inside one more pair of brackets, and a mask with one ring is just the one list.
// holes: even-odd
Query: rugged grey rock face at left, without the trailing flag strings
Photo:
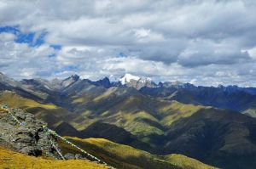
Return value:
[(26, 155), (61, 158), (52, 145), (57, 147), (56, 138), (43, 128), (46, 126), (44, 121), (39, 121), (34, 115), (20, 109), (10, 111), (21, 125), (9, 113), (0, 112), (0, 145)]

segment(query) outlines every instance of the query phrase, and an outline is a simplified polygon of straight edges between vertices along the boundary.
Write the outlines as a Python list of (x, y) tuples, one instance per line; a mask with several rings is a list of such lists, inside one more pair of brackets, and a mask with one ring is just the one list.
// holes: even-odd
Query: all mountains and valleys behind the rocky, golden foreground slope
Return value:
[(256, 88), (155, 83), (125, 74), (117, 82), (24, 79), (0, 74), (0, 102), (46, 121), (63, 136), (106, 138), (154, 155), (173, 153), (221, 168), (254, 168)]

